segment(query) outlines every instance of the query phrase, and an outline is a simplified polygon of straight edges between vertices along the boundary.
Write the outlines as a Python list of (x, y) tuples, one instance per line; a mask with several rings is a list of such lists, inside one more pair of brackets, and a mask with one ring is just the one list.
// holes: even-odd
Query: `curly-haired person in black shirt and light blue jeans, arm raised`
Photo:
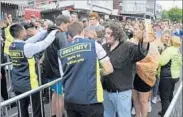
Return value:
[(116, 22), (105, 28), (106, 44), (104, 49), (110, 57), (114, 72), (103, 78), (104, 117), (131, 117), (131, 99), (135, 64), (148, 53), (149, 42), (139, 31), (138, 45), (126, 42), (125, 33)]

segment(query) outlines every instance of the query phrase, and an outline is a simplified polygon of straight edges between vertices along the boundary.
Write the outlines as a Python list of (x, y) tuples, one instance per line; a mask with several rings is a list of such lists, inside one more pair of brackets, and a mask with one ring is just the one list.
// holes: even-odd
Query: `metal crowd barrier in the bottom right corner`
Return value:
[(182, 82), (180, 83), (164, 117), (182, 117)]

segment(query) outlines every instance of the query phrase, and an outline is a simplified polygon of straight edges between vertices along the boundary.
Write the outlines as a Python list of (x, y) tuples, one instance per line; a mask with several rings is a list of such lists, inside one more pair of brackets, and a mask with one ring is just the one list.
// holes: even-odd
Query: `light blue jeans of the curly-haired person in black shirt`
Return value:
[(131, 105), (132, 90), (115, 93), (104, 91), (104, 117), (131, 117)]

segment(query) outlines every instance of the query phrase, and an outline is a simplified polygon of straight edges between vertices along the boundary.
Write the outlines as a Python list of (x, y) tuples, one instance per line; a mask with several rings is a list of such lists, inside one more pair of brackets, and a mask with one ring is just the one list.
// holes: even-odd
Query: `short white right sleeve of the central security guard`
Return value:
[(97, 58), (99, 59), (100, 62), (109, 60), (109, 57), (107, 56), (107, 53), (102, 47), (102, 45), (100, 45), (98, 42), (95, 41), (95, 47), (96, 47)]

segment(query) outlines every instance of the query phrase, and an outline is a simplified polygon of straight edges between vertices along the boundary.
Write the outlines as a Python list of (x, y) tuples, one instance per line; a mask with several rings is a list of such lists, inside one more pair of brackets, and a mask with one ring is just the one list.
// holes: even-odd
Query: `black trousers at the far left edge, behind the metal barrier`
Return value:
[(1, 79), (1, 96), (2, 96), (3, 100), (8, 99), (6, 76), (3, 74), (2, 74), (2, 79)]

